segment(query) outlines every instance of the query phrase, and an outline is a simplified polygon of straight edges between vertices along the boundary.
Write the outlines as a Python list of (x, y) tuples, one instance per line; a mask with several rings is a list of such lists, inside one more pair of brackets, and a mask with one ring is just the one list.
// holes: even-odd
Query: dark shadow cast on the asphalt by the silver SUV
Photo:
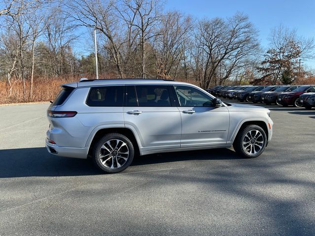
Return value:
[[(186, 160), (229, 160), (239, 158), (234, 151), (221, 148), (136, 156), (131, 166)], [(90, 160), (55, 156), (48, 153), (46, 148), (2, 149), (0, 150), (0, 162), (0, 178), (102, 174)]]

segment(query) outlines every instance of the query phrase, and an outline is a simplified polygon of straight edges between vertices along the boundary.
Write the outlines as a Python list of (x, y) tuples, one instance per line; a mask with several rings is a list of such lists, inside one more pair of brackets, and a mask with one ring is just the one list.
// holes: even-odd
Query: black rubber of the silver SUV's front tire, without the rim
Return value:
[[(261, 139), (263, 141), (262, 147), (255, 154), (248, 153), (243, 146), (243, 140), (244, 140), (245, 136), (247, 135), (247, 133), (250, 132), (251, 130), (253, 132), (254, 132), (254, 130), (258, 130), (262, 135), (262, 139)], [(266, 144), (267, 144), (267, 136), (266, 136), (264, 129), (258, 125), (250, 124), (238, 132), (238, 134), (234, 140), (234, 143), (233, 143), (233, 148), (237, 154), (239, 154), (240, 156), (242, 156), (244, 158), (255, 158), (255, 157), (259, 156), (264, 151), (264, 149), (266, 148)]]

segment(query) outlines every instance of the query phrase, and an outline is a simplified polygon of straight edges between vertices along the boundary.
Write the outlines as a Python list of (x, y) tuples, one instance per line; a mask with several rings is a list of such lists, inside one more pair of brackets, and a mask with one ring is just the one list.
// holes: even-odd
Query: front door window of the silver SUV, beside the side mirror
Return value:
[(198, 89), (188, 86), (174, 87), (181, 107), (213, 106), (213, 98)]

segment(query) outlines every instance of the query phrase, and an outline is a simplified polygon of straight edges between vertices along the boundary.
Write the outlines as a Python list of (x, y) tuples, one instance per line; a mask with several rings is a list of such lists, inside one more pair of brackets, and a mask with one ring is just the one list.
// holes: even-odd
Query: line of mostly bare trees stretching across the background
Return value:
[[(93, 31), (99, 73), (107, 78), (222, 84), (289, 84), (312, 77), (303, 67), (314, 40), (279, 26), (267, 50), (258, 30), (236, 13), (197, 20), (165, 11), (160, 0), (4, 0), (0, 3), (0, 78), (8, 96), (23, 85), (33, 101), (34, 80), (93, 77)], [(80, 53), (85, 55), (80, 56)], [(91, 52), (86, 54), (86, 52)], [(302, 63), (301, 63), (302, 62)]]

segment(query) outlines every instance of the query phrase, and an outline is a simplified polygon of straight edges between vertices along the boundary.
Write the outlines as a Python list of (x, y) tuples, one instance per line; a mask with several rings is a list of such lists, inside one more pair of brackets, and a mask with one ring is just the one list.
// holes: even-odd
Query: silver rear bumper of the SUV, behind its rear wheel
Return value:
[(84, 148), (59, 147), (58, 145), (48, 143), (46, 139), (46, 148), (49, 153), (57, 156), (86, 159), (88, 157), (88, 151), (90, 147)]

